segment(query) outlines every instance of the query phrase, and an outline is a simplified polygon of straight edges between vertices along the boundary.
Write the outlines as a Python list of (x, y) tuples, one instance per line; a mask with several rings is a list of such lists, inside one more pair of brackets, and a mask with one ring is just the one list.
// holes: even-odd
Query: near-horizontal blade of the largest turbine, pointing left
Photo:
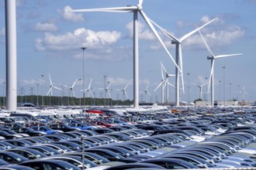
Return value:
[(115, 8), (88, 8), (72, 9), (71, 12), (133, 12), (137, 6), (115, 7)]

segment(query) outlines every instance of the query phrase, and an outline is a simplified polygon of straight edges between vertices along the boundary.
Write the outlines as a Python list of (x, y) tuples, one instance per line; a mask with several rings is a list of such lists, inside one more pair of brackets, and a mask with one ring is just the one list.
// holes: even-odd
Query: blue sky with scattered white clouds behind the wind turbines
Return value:
[[(92, 93), (104, 97), (105, 87), (112, 99), (122, 100), (120, 89), (126, 88), (133, 100), (133, 14), (115, 12), (71, 12), (71, 9), (108, 8), (137, 5), (137, 0), (16, 0), (17, 19), (17, 83), (18, 95), (46, 95), (50, 88), (49, 74), (54, 86), (54, 96), (68, 96), (65, 86), (83, 76), (85, 88), (92, 79)], [(144, 0), (143, 11), (177, 38), (202, 26), (211, 19), (215, 22), (201, 29), (209, 48), (215, 55), (243, 53), (216, 59), (215, 99), (255, 100), (256, 79), (254, 54), (256, 46), (256, 0)], [(5, 88), (5, 1), (0, 0), (0, 96)], [(157, 28), (156, 28), (157, 29)], [(175, 45), (161, 30), (157, 32), (175, 57)], [(81, 47), (87, 49), (83, 52)], [(84, 55), (84, 60), (83, 60)], [(182, 42), (185, 93), (181, 100), (199, 98), (199, 87), (209, 79), (209, 53), (198, 32)], [(139, 80), (140, 101), (161, 101), (161, 63), (168, 73), (175, 73), (164, 48), (139, 15)], [(223, 69), (225, 66), (225, 69)], [(189, 73), (189, 74), (188, 74)], [(42, 76), (43, 75), (43, 76)], [(170, 83), (175, 84), (171, 77)], [(82, 97), (83, 81), (74, 86), (76, 97)], [(155, 90), (155, 91), (154, 91)], [(207, 86), (202, 88), (207, 99)], [(170, 100), (175, 100), (175, 88), (169, 87)]]

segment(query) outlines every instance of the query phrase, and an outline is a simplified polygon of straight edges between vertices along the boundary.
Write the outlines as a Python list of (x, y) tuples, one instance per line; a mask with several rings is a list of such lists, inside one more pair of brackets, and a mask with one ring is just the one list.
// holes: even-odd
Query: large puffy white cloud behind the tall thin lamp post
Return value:
[[(87, 53), (87, 58), (99, 59), (102, 57), (109, 59), (112, 58), (112, 45), (120, 39), (121, 33), (112, 31), (95, 32), (90, 29), (76, 29), (74, 32), (66, 32), (62, 35), (54, 35), (50, 32), (44, 34), (43, 38), (35, 40), (35, 47), (37, 50), (47, 51), (47, 53), (64, 52), (70, 56), (72, 50), (77, 51), (81, 46), (86, 46), (93, 53)], [(65, 53), (68, 52), (69, 54)], [(56, 56), (56, 55), (55, 55)], [(57, 56), (60, 56), (57, 55)], [(71, 54), (74, 56), (74, 54)], [(74, 58), (80, 59), (81, 53)]]

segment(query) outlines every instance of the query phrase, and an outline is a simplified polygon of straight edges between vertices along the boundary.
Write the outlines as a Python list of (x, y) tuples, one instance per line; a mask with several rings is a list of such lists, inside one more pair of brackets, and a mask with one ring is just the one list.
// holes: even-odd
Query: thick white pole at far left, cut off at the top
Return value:
[(5, 0), (6, 109), (17, 110), (16, 0)]

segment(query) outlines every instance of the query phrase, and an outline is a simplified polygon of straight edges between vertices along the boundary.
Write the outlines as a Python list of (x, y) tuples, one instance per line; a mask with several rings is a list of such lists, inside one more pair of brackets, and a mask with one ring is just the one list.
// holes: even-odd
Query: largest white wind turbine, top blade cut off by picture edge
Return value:
[(71, 10), (72, 12), (133, 12), (133, 107), (139, 107), (139, 38), (138, 38), (138, 12), (150, 27), (154, 35), (157, 37), (158, 41), (164, 47), (166, 53), (171, 58), (172, 62), (175, 63), (175, 66), (179, 71), (181, 69), (178, 67), (178, 64), (175, 62), (175, 59), (172, 58), (171, 53), (164, 45), (161, 37), (158, 35), (157, 30), (154, 29), (154, 26), (150, 22), (150, 19), (147, 18), (147, 15), (142, 10), (143, 0), (139, 0), (137, 5), (128, 5), (125, 7), (116, 7), (116, 8), (91, 8), (91, 9), (75, 9)]

